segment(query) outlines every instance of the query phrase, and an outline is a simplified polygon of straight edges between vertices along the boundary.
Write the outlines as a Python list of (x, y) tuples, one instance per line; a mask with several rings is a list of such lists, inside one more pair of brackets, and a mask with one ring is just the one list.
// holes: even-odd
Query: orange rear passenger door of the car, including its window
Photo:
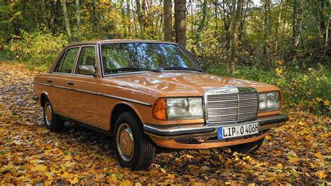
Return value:
[(77, 58), (79, 47), (73, 47), (66, 49), (61, 58), (59, 59), (57, 66), (49, 77), (45, 79), (45, 83), (51, 85), (47, 94), (52, 103), (54, 112), (68, 117), (67, 95), (68, 84), (71, 79), (73, 66), (75, 59)]

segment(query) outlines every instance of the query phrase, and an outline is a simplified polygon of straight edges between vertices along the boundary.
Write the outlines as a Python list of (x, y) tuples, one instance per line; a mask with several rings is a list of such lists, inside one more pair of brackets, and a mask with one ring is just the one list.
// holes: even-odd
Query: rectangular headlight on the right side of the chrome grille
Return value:
[(263, 92), (258, 94), (259, 112), (279, 110), (281, 106), (281, 96), (279, 92)]

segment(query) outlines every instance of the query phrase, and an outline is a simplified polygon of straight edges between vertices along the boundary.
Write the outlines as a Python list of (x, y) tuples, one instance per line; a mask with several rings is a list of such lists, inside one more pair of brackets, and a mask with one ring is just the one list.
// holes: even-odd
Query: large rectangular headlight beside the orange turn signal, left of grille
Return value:
[(203, 100), (200, 97), (167, 98), (169, 120), (203, 118)]

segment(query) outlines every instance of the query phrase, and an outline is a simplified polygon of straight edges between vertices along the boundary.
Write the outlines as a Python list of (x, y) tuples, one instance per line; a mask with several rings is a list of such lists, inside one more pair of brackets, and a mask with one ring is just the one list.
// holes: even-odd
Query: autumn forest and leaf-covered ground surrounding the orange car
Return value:
[[(331, 1), (0, 0), (0, 183), (330, 185)], [(148, 171), (119, 166), (108, 136), (43, 127), (34, 76), (64, 46), (171, 41), (207, 73), (276, 85), (290, 120), (256, 154), (160, 150)]]

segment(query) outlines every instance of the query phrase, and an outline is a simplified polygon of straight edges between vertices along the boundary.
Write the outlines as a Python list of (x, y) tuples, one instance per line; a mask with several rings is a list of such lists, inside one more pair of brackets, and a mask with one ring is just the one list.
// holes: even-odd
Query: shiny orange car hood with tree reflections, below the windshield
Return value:
[(202, 95), (205, 90), (225, 86), (253, 87), (258, 92), (279, 90), (277, 87), (267, 83), (192, 71), (162, 71), (161, 73), (138, 73), (134, 75), (110, 76), (108, 78), (119, 81), (121, 84), (129, 84), (130, 87), (137, 88), (140, 86), (149, 90), (153, 89), (163, 94), (166, 93), (168, 96)]

